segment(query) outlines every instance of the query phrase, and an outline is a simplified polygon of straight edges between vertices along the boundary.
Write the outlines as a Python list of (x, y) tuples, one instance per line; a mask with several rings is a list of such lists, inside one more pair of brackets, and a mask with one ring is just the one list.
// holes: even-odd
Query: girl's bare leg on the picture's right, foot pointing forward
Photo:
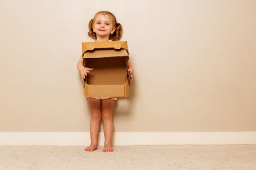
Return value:
[(102, 152), (113, 152), (112, 148), (112, 134), (114, 130), (113, 125), (113, 107), (115, 101), (113, 99), (104, 99), (102, 100), (102, 120), (103, 120), (103, 129), (104, 129), (104, 149)]

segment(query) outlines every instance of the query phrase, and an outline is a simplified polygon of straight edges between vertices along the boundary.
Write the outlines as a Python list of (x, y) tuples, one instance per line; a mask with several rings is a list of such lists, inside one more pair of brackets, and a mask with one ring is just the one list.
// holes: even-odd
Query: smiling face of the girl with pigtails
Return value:
[(113, 25), (112, 18), (108, 15), (102, 14), (95, 17), (92, 27), (97, 37), (109, 37), (109, 34), (113, 34), (116, 30), (116, 27)]

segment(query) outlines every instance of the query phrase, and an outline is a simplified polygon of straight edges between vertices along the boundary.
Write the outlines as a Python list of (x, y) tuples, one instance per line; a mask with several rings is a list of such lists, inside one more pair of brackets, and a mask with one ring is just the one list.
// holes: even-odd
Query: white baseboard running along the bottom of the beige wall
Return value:
[[(89, 145), (90, 132), (0, 132), (0, 145)], [(256, 144), (256, 132), (114, 132), (113, 145)], [(99, 145), (104, 134), (99, 133)]]

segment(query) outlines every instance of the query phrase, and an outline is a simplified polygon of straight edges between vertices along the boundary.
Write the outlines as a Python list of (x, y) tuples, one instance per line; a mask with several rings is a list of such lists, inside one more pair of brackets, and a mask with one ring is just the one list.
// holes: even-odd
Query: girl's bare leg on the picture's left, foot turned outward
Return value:
[(97, 149), (98, 146), (98, 136), (100, 129), (100, 100), (88, 98), (88, 104), (91, 112), (90, 120), (90, 136), (91, 136), (91, 145), (85, 148), (85, 151), (92, 152)]

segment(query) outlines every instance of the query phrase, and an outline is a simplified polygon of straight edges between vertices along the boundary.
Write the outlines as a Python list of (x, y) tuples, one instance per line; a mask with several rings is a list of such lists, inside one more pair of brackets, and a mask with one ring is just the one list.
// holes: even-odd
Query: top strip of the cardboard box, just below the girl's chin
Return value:
[(94, 50), (95, 48), (114, 48), (120, 50), (125, 49), (128, 52), (127, 41), (99, 41), (99, 42), (83, 42), (82, 53), (84, 54), (88, 50)]

